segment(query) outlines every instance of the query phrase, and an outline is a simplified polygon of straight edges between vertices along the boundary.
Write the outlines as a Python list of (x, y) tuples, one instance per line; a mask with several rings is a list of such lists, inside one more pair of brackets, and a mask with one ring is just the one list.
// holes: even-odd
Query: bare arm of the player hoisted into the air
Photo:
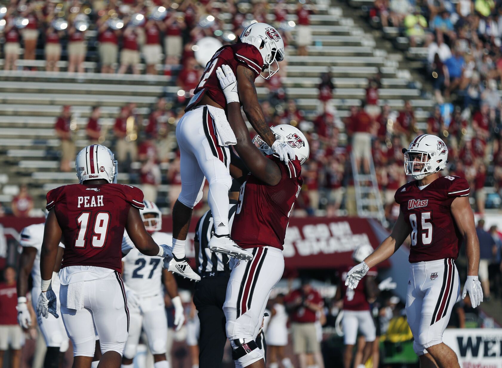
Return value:
[[(249, 120), (255, 131), (260, 135), (260, 137), (262, 137), (265, 143), (272, 147), (272, 144), (275, 142), (276, 138), (274, 136), (274, 133), (272, 133), (272, 130), (269, 128), (267, 121), (265, 120), (262, 106), (258, 101), (258, 93), (256, 92), (255, 87), (256, 74), (245, 66), (239, 65), (237, 66), (236, 77), (238, 82), (237, 90), (239, 92), (239, 98), (242, 102), (242, 109), (244, 110), (247, 119)], [(228, 116), (228, 118), (231, 125), (232, 123), (230, 115)]]

